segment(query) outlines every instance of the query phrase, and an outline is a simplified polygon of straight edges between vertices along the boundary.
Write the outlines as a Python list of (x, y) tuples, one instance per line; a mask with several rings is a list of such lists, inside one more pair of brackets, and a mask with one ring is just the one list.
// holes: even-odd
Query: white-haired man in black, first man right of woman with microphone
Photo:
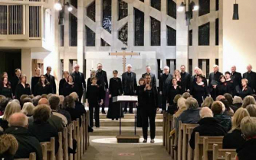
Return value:
[(172, 81), (172, 75), (169, 74), (169, 66), (165, 66), (163, 69), (163, 74), (159, 78), (159, 94), (162, 95), (162, 112), (166, 111), (166, 101), (168, 95), (168, 88)]

